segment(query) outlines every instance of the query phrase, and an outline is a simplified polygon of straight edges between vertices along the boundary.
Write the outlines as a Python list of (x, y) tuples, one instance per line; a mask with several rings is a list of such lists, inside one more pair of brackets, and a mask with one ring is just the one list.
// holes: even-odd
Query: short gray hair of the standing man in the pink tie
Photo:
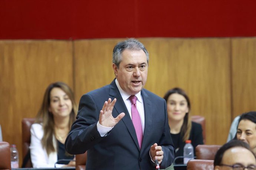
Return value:
[(129, 38), (128, 40), (121, 41), (117, 43), (113, 49), (113, 58), (112, 62), (119, 68), (119, 64), (122, 61), (122, 52), (124, 50), (143, 50), (147, 56), (147, 62), (149, 60), (149, 54), (144, 45), (134, 38)]

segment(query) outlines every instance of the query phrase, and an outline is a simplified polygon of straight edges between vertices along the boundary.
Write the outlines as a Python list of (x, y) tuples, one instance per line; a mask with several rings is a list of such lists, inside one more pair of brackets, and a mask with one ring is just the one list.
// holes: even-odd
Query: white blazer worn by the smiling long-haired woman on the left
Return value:
[[(31, 133), (31, 142), (30, 142), (30, 156), (33, 168), (45, 168), (45, 167), (62, 167), (61, 164), (56, 164), (58, 160), (58, 153), (52, 152), (47, 155), (45, 149), (42, 146), (42, 138), (43, 138), (43, 126), (38, 123), (34, 123), (30, 129)], [(56, 148), (56, 140), (53, 137), (53, 145)]]

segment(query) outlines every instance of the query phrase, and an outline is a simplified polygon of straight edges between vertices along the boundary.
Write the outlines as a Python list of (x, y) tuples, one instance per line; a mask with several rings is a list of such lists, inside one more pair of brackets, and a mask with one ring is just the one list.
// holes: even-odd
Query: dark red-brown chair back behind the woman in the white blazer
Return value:
[(30, 128), (31, 125), (35, 122), (35, 118), (23, 118), (22, 119), (22, 158), (23, 162), (26, 160), (26, 163), (23, 164), (23, 167), (30, 168), (32, 167), (30, 159)]

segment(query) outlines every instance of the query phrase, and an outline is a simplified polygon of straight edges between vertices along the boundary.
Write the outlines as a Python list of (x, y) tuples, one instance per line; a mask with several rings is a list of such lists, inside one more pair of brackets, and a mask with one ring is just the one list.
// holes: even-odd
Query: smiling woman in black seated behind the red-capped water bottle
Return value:
[[(186, 140), (191, 140), (195, 156), (196, 146), (203, 144), (203, 130), (199, 123), (191, 121), (190, 100), (187, 94), (183, 89), (173, 88), (164, 95), (164, 99), (167, 103), (171, 139), (176, 151), (175, 157), (183, 156)], [(183, 164), (183, 159), (177, 159), (174, 163)]]

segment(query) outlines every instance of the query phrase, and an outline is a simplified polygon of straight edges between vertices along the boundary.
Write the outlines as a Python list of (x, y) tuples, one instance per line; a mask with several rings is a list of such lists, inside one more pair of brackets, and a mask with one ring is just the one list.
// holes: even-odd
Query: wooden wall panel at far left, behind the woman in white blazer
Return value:
[(0, 41), (0, 124), (3, 140), (16, 144), (22, 162), (22, 118), (36, 116), (46, 87), (73, 87), (72, 42)]

